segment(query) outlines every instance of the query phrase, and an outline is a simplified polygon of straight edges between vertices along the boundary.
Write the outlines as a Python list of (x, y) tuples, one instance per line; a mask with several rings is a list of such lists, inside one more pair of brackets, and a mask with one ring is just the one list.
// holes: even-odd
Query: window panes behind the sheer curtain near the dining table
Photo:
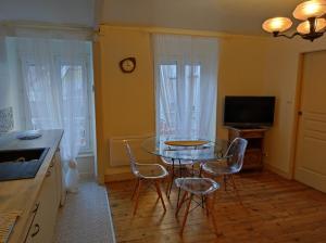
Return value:
[[(177, 64), (161, 64), (159, 98), (159, 135), (198, 137), (201, 116), (201, 65), (184, 65), (178, 78)], [(187, 119), (187, 120), (186, 120)], [(185, 122), (186, 120), (186, 122)]]

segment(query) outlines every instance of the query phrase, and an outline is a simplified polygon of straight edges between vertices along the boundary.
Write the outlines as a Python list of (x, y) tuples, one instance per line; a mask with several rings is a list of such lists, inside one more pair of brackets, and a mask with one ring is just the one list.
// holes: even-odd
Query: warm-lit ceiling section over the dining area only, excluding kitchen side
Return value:
[(291, 16), (299, 2), (302, 0), (104, 0), (101, 20), (123, 25), (261, 35), (265, 18)]

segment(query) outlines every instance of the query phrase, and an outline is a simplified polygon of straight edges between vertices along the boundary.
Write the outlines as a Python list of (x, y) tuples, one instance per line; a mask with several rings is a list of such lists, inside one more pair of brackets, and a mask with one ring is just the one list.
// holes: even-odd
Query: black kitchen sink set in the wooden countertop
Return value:
[(0, 181), (34, 178), (49, 148), (0, 150)]

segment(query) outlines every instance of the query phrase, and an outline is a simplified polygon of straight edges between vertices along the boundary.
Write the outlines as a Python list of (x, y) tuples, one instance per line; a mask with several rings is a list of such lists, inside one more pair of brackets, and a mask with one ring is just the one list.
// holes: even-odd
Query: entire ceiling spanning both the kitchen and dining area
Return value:
[(262, 35), (262, 22), (291, 16), (301, 0), (0, 0), (0, 21), (97, 23)]

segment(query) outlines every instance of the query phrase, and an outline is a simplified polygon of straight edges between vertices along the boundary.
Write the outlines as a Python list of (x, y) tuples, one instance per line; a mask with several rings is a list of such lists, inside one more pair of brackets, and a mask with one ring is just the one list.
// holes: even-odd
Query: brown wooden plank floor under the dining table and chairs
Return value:
[(156, 201), (156, 193), (143, 190), (139, 208), (133, 216), (130, 195), (134, 181), (108, 183), (110, 205), (118, 243), (326, 243), (326, 194), (289, 181), (272, 172), (243, 174), (236, 177), (241, 206), (231, 191), (216, 194), (215, 215), (220, 235), (201, 208), (189, 214), (184, 234), (174, 215), (176, 192), (164, 200), (167, 212)]

